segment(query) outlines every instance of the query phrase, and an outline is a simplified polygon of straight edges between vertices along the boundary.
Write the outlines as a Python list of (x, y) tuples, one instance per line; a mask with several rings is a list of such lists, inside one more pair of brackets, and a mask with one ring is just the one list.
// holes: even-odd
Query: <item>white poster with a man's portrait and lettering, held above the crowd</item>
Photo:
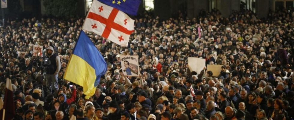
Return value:
[(125, 76), (139, 76), (138, 56), (121, 55), (122, 73)]

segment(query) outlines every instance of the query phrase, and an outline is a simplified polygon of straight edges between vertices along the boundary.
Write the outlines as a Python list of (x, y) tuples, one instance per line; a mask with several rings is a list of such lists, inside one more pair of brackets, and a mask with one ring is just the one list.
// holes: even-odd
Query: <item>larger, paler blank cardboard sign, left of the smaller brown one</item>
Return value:
[(205, 59), (188, 57), (188, 66), (190, 71), (195, 71), (197, 74), (205, 67)]

